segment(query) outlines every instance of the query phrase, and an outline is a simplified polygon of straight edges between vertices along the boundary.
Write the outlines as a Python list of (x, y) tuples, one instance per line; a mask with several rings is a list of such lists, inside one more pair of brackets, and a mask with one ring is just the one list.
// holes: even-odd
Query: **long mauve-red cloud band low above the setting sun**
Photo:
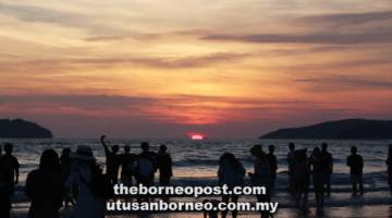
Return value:
[(279, 117), (314, 108), (307, 100), (267, 100), (218, 96), (176, 95), (166, 97), (107, 95), (0, 96), (1, 112), (21, 114), (68, 114), (77, 117), (124, 117), (164, 123), (246, 121)]

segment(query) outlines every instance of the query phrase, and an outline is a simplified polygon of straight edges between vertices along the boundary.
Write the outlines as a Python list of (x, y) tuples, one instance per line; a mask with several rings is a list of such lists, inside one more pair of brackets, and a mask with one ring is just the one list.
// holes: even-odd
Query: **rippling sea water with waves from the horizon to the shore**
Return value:
[[(286, 154), (289, 142), (296, 143), (296, 148), (308, 148), (308, 154), (314, 147), (320, 146), (322, 142), (329, 144), (329, 150), (333, 155), (332, 196), (326, 199), (326, 206), (381, 206), (391, 205), (392, 197), (387, 182), (387, 153), (391, 141), (308, 141), (308, 140), (111, 140), (110, 145), (118, 144), (121, 147), (130, 145), (131, 152), (140, 152), (140, 142), (149, 142), (151, 150), (157, 152), (160, 144), (166, 144), (173, 159), (174, 185), (217, 185), (217, 170), (219, 157), (225, 153), (233, 153), (246, 170), (253, 171), (253, 157), (249, 149), (255, 144), (275, 145), (275, 155), (279, 159), (279, 174), (277, 179), (277, 191), (273, 199), (280, 203), (280, 208), (292, 208), (294, 203), (286, 192), (287, 165)], [(14, 155), (21, 162), (21, 184), (16, 191), (14, 202), (17, 207), (27, 208), (26, 198), (23, 194), (24, 180), (29, 171), (38, 167), (39, 157), (44, 149), (53, 148), (59, 154), (65, 147), (75, 150), (77, 145), (89, 145), (98, 162), (105, 162), (105, 154), (99, 140), (2, 140), (0, 143), (11, 142), (14, 144)], [(351, 184), (346, 157), (350, 155), (351, 146), (357, 146), (358, 153), (365, 159), (365, 195), (354, 197), (351, 195)], [(121, 149), (121, 153), (123, 150)], [(246, 180), (249, 183), (249, 180)], [(309, 195), (310, 206), (314, 204), (314, 195)], [(219, 196), (217, 196), (219, 198)], [(173, 201), (184, 201), (175, 199)], [(186, 201), (197, 201), (188, 198)], [(241, 201), (254, 202), (255, 197), (244, 196)], [(283, 216), (284, 217), (284, 216)]]

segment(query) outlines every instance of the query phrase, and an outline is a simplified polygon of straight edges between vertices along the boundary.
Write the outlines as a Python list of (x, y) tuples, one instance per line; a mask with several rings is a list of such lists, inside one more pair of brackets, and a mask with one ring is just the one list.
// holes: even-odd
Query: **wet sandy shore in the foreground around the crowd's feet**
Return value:
[[(317, 216), (315, 210), (314, 194), (309, 193), (309, 211), (304, 214), (294, 208), (294, 202), (287, 192), (278, 192), (273, 195), (272, 201), (279, 202), (279, 209), (274, 217), (279, 218), (302, 218), (302, 217), (324, 217), (324, 218), (392, 218), (392, 197), (383, 189), (370, 189), (364, 196), (352, 196), (345, 190), (334, 189), (331, 197), (326, 198), (324, 214)], [(17, 189), (19, 197), (14, 198), (12, 217), (25, 218), (29, 207), (28, 199), (23, 195), (22, 189)], [(201, 197), (201, 199), (205, 197)], [(211, 197), (208, 197), (211, 198)], [(219, 196), (213, 197), (220, 199)], [(242, 196), (240, 202), (255, 202), (254, 196)], [(193, 197), (172, 197), (171, 202), (200, 202), (200, 198)], [(70, 210), (62, 210), (62, 218), (69, 218)], [(160, 213), (160, 214), (122, 214), (108, 215), (107, 218), (201, 218), (201, 213)], [(259, 215), (254, 213), (240, 213), (240, 218), (258, 218)]]

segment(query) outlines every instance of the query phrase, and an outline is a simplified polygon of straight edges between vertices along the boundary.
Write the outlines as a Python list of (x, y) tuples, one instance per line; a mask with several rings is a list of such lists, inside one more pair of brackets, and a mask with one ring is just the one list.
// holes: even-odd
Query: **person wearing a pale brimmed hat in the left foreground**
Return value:
[(72, 211), (73, 218), (103, 218), (106, 213), (106, 201), (91, 190), (94, 173), (99, 167), (89, 146), (77, 146), (76, 153), (71, 155), (74, 158), (71, 174), (66, 181), (69, 187), (77, 186), (78, 195), (76, 206)]

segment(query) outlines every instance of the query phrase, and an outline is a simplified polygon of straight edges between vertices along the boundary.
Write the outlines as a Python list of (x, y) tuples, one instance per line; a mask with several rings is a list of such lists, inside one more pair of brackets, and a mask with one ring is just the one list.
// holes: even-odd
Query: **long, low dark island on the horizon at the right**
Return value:
[(392, 140), (392, 121), (347, 119), (315, 125), (280, 129), (259, 138)]

